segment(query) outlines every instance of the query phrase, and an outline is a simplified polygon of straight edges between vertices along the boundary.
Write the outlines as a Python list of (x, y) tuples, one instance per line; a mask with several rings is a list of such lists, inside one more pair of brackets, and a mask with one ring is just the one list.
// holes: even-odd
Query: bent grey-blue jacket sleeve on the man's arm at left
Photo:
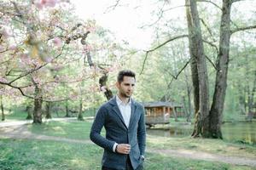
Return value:
[(106, 116), (107, 108), (102, 105), (99, 111), (97, 111), (95, 120), (91, 126), (90, 140), (104, 149), (113, 151), (113, 144), (115, 144), (115, 142), (108, 140), (101, 135), (102, 127), (104, 126), (104, 122), (106, 121)]

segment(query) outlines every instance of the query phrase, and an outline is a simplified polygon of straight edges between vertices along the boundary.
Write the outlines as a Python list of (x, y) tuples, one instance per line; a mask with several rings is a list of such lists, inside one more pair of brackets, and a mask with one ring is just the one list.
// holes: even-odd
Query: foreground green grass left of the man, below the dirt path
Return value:
[(102, 150), (92, 144), (40, 140), (0, 140), (2, 170), (99, 169)]

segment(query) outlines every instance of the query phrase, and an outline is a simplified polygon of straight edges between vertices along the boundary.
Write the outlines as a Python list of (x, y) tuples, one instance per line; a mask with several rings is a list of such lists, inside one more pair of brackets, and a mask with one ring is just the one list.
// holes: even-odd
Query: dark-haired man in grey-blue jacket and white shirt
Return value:
[(135, 82), (134, 72), (119, 71), (118, 94), (100, 107), (92, 124), (90, 139), (104, 149), (102, 170), (143, 169), (146, 130), (143, 105), (131, 99)]

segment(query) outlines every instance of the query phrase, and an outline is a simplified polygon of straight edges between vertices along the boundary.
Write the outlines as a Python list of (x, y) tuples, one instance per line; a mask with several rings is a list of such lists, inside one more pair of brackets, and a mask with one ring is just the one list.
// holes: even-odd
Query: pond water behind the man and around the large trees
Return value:
[[(226, 122), (222, 125), (223, 138), (235, 142), (245, 142), (247, 144), (256, 144), (256, 122)], [(147, 129), (147, 133), (155, 136), (165, 137), (183, 137), (190, 136), (193, 131), (193, 125), (185, 124), (177, 127), (168, 127), (168, 129), (152, 128)]]

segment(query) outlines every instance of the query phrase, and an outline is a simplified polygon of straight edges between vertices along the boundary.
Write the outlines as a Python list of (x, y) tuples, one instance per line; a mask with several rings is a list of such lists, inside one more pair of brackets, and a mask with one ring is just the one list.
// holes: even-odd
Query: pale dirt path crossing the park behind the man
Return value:
[[(1, 125), (1, 123), (0, 123)], [(78, 143), (78, 144), (93, 144), (90, 140), (81, 139), (67, 139), (54, 136), (46, 136), (41, 134), (35, 134), (28, 131), (25, 124), (14, 124), (8, 126), (0, 126), (0, 139), (40, 139), (40, 140), (53, 140), (59, 142)], [(244, 165), (249, 167), (256, 167), (256, 160), (236, 157), (236, 156), (223, 156), (218, 154), (211, 154), (196, 150), (157, 150), (153, 148), (147, 149), (148, 153), (162, 154), (165, 156), (181, 157), (185, 159), (195, 159), (203, 161), (219, 161), (229, 163), (233, 165)]]

